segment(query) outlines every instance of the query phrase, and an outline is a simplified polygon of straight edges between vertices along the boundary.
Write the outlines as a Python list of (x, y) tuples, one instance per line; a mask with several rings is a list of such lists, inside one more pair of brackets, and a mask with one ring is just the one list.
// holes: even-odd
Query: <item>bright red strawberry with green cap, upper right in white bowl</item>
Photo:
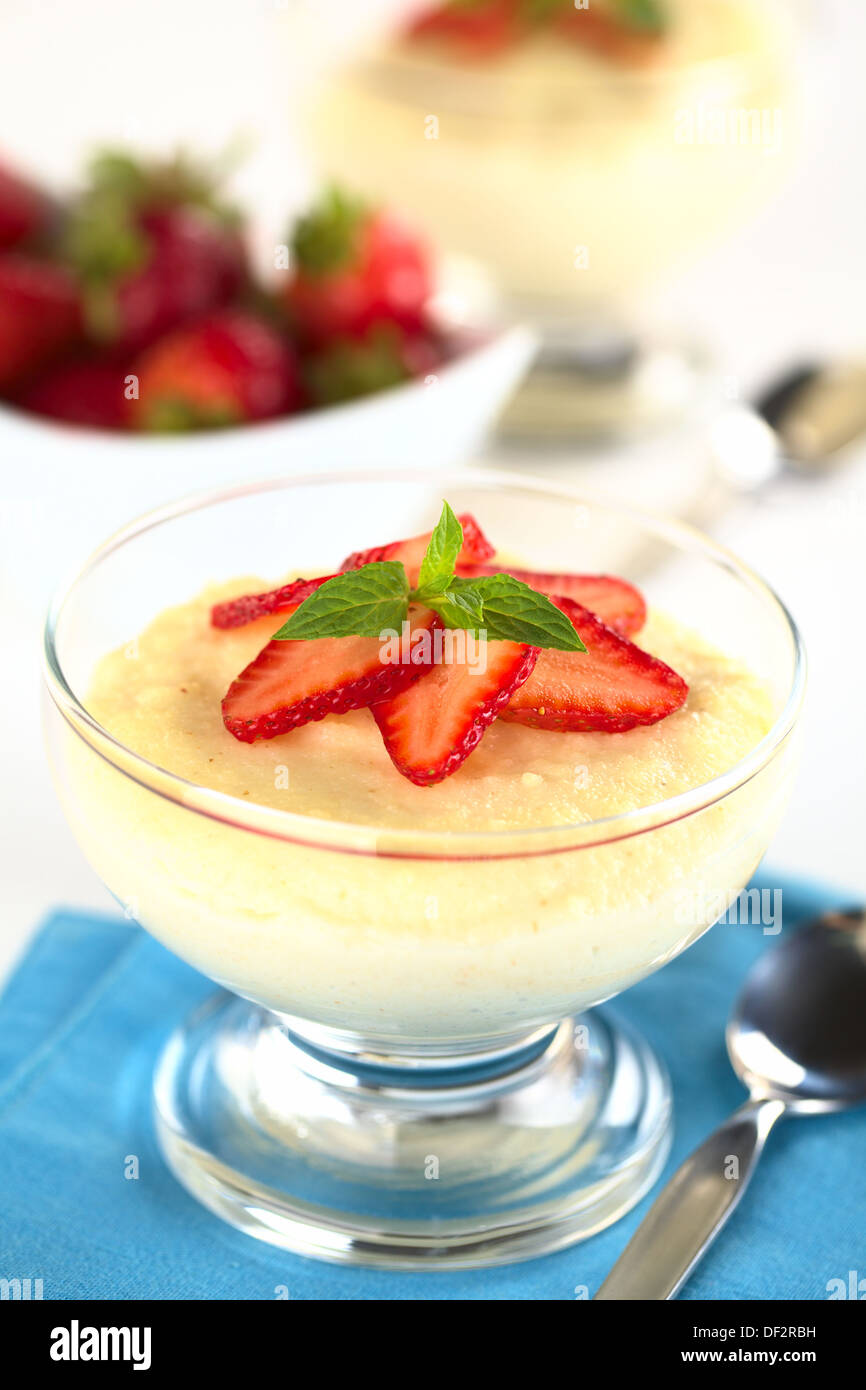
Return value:
[(302, 217), (284, 300), (307, 342), (363, 338), (379, 324), (424, 327), (432, 289), (427, 247), (398, 221), (331, 189)]

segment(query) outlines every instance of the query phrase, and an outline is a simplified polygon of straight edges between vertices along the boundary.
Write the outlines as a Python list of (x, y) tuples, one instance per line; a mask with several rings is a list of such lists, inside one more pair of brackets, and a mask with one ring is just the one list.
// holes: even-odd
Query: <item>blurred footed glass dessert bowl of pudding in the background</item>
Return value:
[(582, 35), (617, 7), (537, 7), (484, 43), (398, 32), (310, 114), (325, 175), (482, 261), (541, 332), (507, 416), (518, 434), (628, 434), (694, 403), (701, 354), (646, 331), (641, 296), (760, 208), (796, 139), (790, 6), (652, 0), (635, 8), (657, 13), (657, 38), (623, 25), (621, 51), (599, 50)]

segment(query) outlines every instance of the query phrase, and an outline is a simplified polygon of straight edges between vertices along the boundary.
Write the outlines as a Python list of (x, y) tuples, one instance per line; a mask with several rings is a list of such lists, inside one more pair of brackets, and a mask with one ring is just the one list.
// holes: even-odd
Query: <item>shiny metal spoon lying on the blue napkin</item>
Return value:
[(596, 1298), (673, 1298), (740, 1202), (776, 1120), (866, 1101), (866, 912), (827, 913), (762, 956), (726, 1041), (749, 1099), (674, 1173)]

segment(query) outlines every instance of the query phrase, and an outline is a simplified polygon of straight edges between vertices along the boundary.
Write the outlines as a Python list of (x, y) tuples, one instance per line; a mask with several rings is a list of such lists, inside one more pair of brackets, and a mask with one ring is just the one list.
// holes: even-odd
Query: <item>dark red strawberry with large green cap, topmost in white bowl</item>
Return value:
[(103, 154), (68, 228), (88, 327), (120, 356), (227, 304), (247, 278), (238, 220), (190, 164)]

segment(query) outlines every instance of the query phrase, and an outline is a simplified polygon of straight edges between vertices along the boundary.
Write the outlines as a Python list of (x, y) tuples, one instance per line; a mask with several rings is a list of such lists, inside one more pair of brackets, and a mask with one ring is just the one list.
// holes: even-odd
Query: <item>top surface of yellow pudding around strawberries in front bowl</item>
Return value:
[(110, 653), (90, 689), (96, 719), (128, 748), (217, 791), (324, 820), (411, 830), (496, 831), (601, 820), (652, 806), (733, 767), (767, 733), (765, 687), (742, 666), (652, 613), (637, 642), (689, 685), (685, 708), (627, 734), (552, 734), (496, 721), (460, 771), (418, 788), (395, 770), (368, 710), (238, 744), (220, 702), (281, 626), (218, 630), (211, 606), (261, 592), (211, 587)]

